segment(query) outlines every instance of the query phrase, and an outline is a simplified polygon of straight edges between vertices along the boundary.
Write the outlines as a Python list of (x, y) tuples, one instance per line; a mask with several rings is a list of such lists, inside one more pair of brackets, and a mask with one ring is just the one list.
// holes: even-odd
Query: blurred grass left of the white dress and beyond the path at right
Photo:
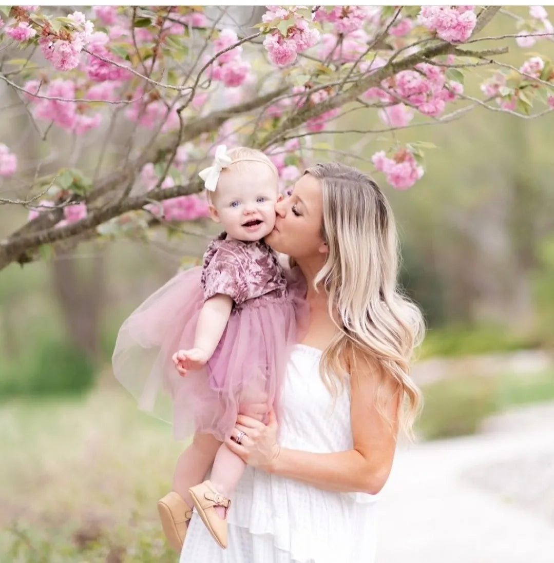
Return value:
[[(554, 374), (424, 390), (419, 432), (471, 434), (512, 404), (554, 399)], [(0, 403), (0, 562), (176, 563), (156, 501), (182, 445), (110, 377), (81, 399)]]

